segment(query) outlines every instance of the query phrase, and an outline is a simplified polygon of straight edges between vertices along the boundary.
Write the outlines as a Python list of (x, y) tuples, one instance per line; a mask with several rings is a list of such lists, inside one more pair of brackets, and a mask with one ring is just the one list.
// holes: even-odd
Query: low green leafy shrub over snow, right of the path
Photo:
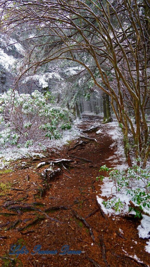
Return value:
[[(112, 181), (109, 200), (103, 202), (106, 209), (124, 214), (134, 210), (139, 218), (142, 214), (150, 216), (150, 167), (143, 169), (136, 164), (127, 170), (116, 170), (104, 165), (101, 171), (108, 172)], [(98, 179), (103, 180), (104, 176)]]

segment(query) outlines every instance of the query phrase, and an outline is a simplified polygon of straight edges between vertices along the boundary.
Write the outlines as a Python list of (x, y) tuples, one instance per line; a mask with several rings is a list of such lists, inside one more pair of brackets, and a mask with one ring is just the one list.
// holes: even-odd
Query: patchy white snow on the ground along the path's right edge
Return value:
[[(113, 147), (117, 146), (117, 150), (114, 153), (114, 156), (109, 157), (107, 160), (111, 160), (112, 165), (115, 165), (115, 169), (117, 168), (118, 170), (125, 170), (127, 169), (127, 164), (125, 164), (125, 156), (124, 156), (124, 148), (123, 148), (123, 142), (122, 142), (122, 137), (121, 134), (118, 130), (118, 123), (117, 122), (112, 122), (108, 124), (104, 124), (104, 131), (107, 130), (108, 134), (111, 136), (111, 138), (114, 140), (113, 144), (110, 146), (112, 149)], [(102, 130), (100, 131), (102, 133)], [(106, 135), (106, 134), (105, 134)], [(108, 135), (107, 135), (108, 136)], [(118, 160), (119, 159), (119, 160)], [(122, 164), (117, 164), (119, 162), (122, 162)], [(106, 164), (107, 165), (107, 164)], [(136, 181), (134, 187), (143, 187), (144, 184), (142, 181)], [(109, 180), (108, 177), (105, 177), (103, 179), (103, 184), (101, 186), (101, 194), (97, 195), (97, 201), (100, 204), (102, 210), (104, 211), (105, 214), (108, 216), (113, 215), (119, 215), (119, 214), (126, 214), (128, 213), (128, 204), (129, 200), (131, 199), (130, 195), (127, 195), (127, 192), (125, 191), (126, 188), (122, 188), (121, 192), (116, 191), (116, 187), (114, 185), (114, 182), (112, 180)], [(122, 203), (125, 203), (124, 207), (122, 210), (118, 210), (117, 212), (114, 209), (107, 209), (103, 201), (106, 198), (111, 198), (117, 199), (117, 201), (120, 199)], [(147, 212), (147, 210), (146, 210)], [(132, 214), (135, 214), (135, 211), (131, 211)], [(139, 237), (140, 238), (149, 238), (149, 241), (146, 242), (145, 246), (145, 251), (150, 253), (150, 217), (147, 215), (143, 215), (143, 218), (141, 219), (141, 224), (137, 227)], [(136, 255), (134, 256), (136, 258)]]

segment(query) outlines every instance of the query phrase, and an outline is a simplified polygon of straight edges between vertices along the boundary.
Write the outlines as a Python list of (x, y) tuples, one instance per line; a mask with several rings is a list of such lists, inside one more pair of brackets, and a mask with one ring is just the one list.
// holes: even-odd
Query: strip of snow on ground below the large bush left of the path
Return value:
[(77, 119), (74, 121), (74, 125), (71, 130), (65, 130), (62, 133), (62, 139), (60, 140), (46, 140), (42, 146), (39, 146), (37, 142), (30, 146), (29, 148), (21, 147), (7, 147), (1, 149), (0, 151), (0, 169), (4, 167), (9, 167), (10, 162), (15, 161), (17, 159), (23, 158), (44, 158), (44, 151), (46, 148), (55, 148), (61, 149), (61, 147), (66, 144), (68, 141), (81, 136), (79, 129), (77, 128), (77, 124), (80, 124), (82, 121)]

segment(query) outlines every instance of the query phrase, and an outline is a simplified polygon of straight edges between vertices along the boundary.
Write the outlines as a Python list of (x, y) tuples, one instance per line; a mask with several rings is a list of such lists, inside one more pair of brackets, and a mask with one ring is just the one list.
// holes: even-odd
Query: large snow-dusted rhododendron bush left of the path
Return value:
[[(14, 93), (14, 97), (13, 97)], [(29, 147), (33, 142), (60, 139), (71, 129), (71, 112), (56, 104), (50, 92), (0, 94), (0, 145)]]

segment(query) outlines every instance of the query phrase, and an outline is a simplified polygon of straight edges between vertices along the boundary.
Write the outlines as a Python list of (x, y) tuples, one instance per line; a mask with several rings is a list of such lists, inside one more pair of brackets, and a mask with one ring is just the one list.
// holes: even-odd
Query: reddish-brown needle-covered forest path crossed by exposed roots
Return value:
[[(78, 127), (84, 130), (102, 121), (102, 117), (84, 114), (82, 121)], [(114, 167), (109, 158), (117, 151), (117, 146), (112, 149), (114, 140), (109, 135), (113, 126), (110, 123), (98, 129), (101, 127), (103, 133), (88, 132), (88, 137), (97, 142), (80, 138), (78, 141), (84, 142), (79, 146), (73, 140), (61, 150), (49, 151), (48, 159), (43, 160), (47, 160), (46, 164), (60, 158), (74, 160), (57, 164), (53, 179), (44, 181), (41, 173), (49, 165), (36, 169), (41, 161), (38, 159), (22, 160), (26, 162), (24, 168), (16, 162), (9, 173), (1, 173), (0, 266), (148, 266), (150, 256), (137, 231), (140, 220), (128, 215), (105, 217), (97, 205), (102, 184), (96, 181), (98, 170), (104, 164)], [(117, 161), (122, 163), (119, 155)], [(13, 244), (25, 246), (29, 253), (10, 255)], [(35, 245), (58, 253), (32, 255)], [(59, 255), (63, 245), (82, 253)]]

